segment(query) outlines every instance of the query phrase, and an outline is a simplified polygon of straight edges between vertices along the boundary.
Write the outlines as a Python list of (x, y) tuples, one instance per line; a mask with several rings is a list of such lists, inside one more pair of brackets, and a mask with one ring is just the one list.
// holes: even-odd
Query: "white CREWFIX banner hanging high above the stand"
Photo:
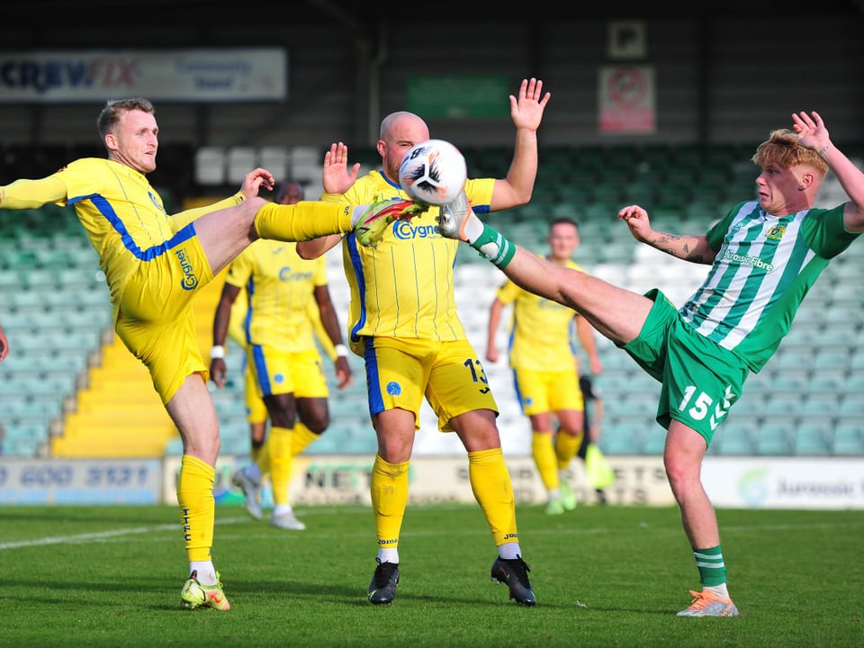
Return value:
[(282, 101), (283, 48), (0, 52), (0, 103)]

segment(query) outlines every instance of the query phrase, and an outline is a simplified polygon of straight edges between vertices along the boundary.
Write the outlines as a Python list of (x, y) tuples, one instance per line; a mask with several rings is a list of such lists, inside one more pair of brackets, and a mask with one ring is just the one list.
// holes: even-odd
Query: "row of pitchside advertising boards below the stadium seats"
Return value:
[[(617, 482), (610, 504), (673, 506), (662, 457), (608, 457)], [(242, 496), (231, 475), (246, 457), (222, 457), (214, 495), (220, 505), (239, 506)], [(297, 506), (370, 505), (365, 456), (302, 456), (291, 485)], [(543, 485), (530, 457), (508, 459), (520, 504), (545, 502)], [(179, 457), (165, 459), (18, 459), (0, 457), (0, 505), (176, 504)], [(717, 508), (864, 509), (864, 457), (707, 457), (703, 482)], [(572, 484), (581, 502), (592, 502), (578, 460)], [(264, 491), (264, 505), (272, 494)], [(464, 457), (418, 457), (410, 467), (412, 503), (473, 502)]]

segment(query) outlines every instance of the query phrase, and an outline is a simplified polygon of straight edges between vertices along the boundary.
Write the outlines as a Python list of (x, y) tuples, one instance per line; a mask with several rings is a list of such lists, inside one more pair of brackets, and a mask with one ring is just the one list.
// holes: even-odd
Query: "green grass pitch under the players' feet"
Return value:
[(490, 581), (476, 506), (408, 509), (391, 606), (365, 590), (372, 513), (298, 509), (281, 531), (217, 510), (214, 560), (231, 610), (186, 611), (174, 507), (0, 508), (0, 646), (864, 645), (861, 511), (720, 510), (737, 618), (675, 613), (698, 590), (677, 509), (518, 509), (538, 604)]

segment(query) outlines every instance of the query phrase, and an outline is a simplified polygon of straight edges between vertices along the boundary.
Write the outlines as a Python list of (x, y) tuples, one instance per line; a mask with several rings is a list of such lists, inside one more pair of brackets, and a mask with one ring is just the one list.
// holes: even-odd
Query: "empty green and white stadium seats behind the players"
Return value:
[[(199, 171), (205, 175), (206, 153), (202, 150), (199, 155)], [(226, 181), (228, 149), (217, 153), (211, 156), (211, 179), (200, 177), (202, 184)], [(376, 165), (374, 151), (366, 153), (369, 163)], [(511, 155), (503, 149), (467, 149), (464, 153), (472, 175), (505, 174)], [(320, 155), (312, 151), (299, 150), (294, 155), (290, 150), (261, 148), (256, 154), (257, 159), (270, 156), (273, 165), (284, 164), (286, 172), (296, 164), (306, 170), (317, 166), (320, 175)], [(495, 224), (519, 244), (543, 252), (549, 220), (571, 216), (581, 225), (576, 260), (588, 272), (636, 292), (658, 286), (680, 303), (701, 281), (704, 268), (637, 245), (626, 226), (617, 221), (617, 210), (622, 201), (639, 202), (651, 212), (657, 229), (703, 232), (721, 215), (717, 210), (752, 194), (754, 169), (749, 163), (739, 164), (742, 156), (737, 148), (722, 146), (548, 149), (541, 151), (534, 200), (496, 214)], [(696, 187), (698, 201), (691, 195)], [(111, 311), (93, 250), (69, 211), (0, 211), (0, 234), (0, 292), (4, 295), (0, 322), (13, 348), (0, 363), (3, 451), (44, 454), (51, 430), (57, 431), (64, 402), (81, 385), (91, 354), (105, 339), (103, 332), (110, 331)], [(340, 278), (340, 257), (333, 258), (334, 263), (329, 264), (331, 295), (344, 323), (347, 291)], [(864, 456), (862, 266), (864, 243), (860, 241), (828, 266), (776, 356), (761, 374), (748, 379), (743, 399), (718, 429), (711, 454)], [(454, 281), (469, 338), (482, 353), (488, 307), (503, 275), (463, 248)], [(211, 313), (201, 317), (208, 320)], [(210, 324), (211, 320), (205, 321), (205, 326)], [(601, 447), (611, 455), (661, 453), (664, 434), (654, 421), (659, 383), (607, 340), (599, 339), (599, 344), (605, 369), (597, 383), (606, 401)], [(331, 387), (331, 426), (310, 447), (310, 454), (374, 454), (363, 365), (355, 356), (350, 360), (356, 385), (351, 392)], [(488, 366), (487, 374), (500, 405), (503, 445), (509, 452), (530, 452), (526, 422), (515, 402), (506, 361)], [(225, 454), (248, 452), (241, 390), (238, 380), (231, 389), (213, 392)], [(421, 419), (419, 454), (451, 452), (448, 442), (452, 437), (437, 433), (428, 411)], [(165, 451), (179, 452), (179, 439), (170, 438)]]

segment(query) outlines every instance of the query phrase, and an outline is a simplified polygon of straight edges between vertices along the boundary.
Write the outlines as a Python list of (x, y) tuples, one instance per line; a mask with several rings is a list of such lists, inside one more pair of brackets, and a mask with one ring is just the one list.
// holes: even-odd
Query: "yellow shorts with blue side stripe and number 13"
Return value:
[(466, 411), (498, 414), (483, 365), (468, 340), (363, 338), (361, 342), (370, 416), (401, 408), (414, 413), (419, 429), (424, 396), (442, 432), (452, 432), (450, 419)]

